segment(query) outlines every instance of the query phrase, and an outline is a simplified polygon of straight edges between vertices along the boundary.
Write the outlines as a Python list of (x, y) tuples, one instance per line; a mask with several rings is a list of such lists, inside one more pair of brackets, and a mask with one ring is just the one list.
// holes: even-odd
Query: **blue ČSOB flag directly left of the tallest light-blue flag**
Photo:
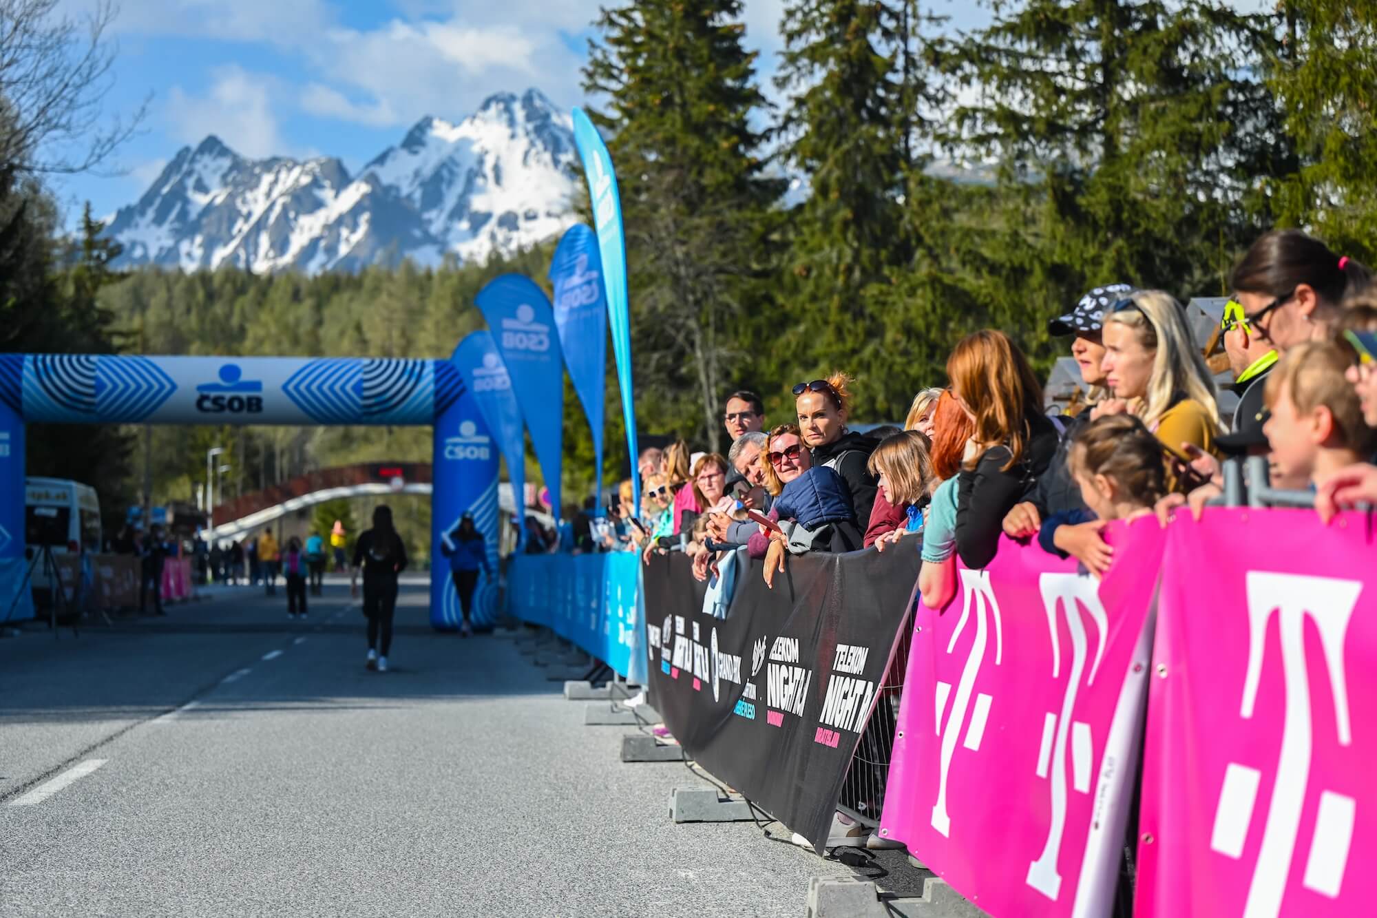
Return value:
[(598, 237), (582, 223), (569, 227), (549, 265), (555, 327), (569, 378), (593, 431), (598, 506), (602, 506), (603, 390), (607, 376), (607, 295)]

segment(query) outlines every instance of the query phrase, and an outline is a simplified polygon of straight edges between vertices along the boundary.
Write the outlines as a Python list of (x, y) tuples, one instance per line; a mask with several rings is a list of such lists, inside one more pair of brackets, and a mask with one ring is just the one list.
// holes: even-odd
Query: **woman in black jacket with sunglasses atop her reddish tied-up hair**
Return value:
[(841, 476), (851, 492), (851, 509), (858, 520), (869, 520), (879, 481), (868, 467), (876, 441), (847, 430), (851, 376), (832, 374), (826, 379), (793, 387), (799, 414), (799, 434), (812, 453), (814, 466), (826, 466)]

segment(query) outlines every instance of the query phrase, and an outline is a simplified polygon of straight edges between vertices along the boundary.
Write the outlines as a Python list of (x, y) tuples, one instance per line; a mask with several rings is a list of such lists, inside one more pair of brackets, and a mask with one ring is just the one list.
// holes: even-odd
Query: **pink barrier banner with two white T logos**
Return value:
[(1103, 583), (1005, 539), (914, 618), (881, 835), (993, 915), (1114, 899), (1165, 535), (1153, 518), (1106, 535)]

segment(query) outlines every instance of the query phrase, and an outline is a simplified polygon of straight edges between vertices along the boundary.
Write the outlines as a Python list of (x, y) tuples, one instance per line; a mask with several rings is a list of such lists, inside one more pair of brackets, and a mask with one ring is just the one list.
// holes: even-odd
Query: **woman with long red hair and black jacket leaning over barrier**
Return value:
[(975, 459), (961, 470), (956, 551), (968, 568), (994, 560), (1005, 514), (1027, 500), (1056, 453), (1056, 427), (1042, 414), (1042, 386), (1004, 332), (967, 336), (947, 358), (952, 394), (975, 425)]

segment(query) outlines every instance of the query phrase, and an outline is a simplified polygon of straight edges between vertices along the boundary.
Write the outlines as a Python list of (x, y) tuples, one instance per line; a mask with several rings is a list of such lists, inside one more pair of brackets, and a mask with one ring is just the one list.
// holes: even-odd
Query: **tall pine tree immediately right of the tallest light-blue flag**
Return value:
[[(752, 117), (766, 102), (742, 47), (739, 0), (606, 8), (585, 88), (606, 95), (627, 229), (638, 397), (649, 416), (722, 436), (744, 350), (735, 323), (763, 296), (782, 183), (763, 175)], [(693, 393), (693, 394), (690, 394)]]

